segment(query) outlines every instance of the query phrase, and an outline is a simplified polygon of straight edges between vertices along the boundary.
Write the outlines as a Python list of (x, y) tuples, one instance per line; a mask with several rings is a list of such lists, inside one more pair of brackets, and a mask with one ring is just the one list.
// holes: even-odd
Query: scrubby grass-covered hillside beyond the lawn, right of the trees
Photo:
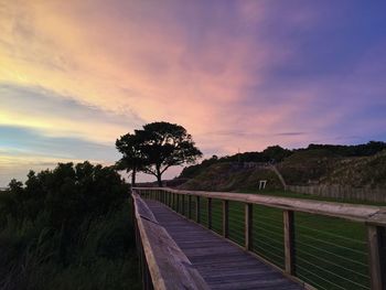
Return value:
[[(386, 189), (385, 148), (384, 142), (358, 146), (310, 144), (305, 149), (282, 151), (286, 155), (282, 155), (275, 167), (290, 185), (339, 184)], [(235, 162), (234, 160), (240, 159), (237, 155), (212, 158), (201, 164), (186, 168), (181, 178), (187, 179), (187, 182), (180, 187), (240, 191), (257, 189), (259, 180), (267, 180), (268, 189), (283, 187), (277, 174), (270, 169), (272, 162), (251, 162), (245, 158), (261, 157), (261, 153), (244, 153), (242, 154), (244, 162)], [(232, 162), (226, 162), (224, 159)], [(266, 157), (262, 160), (268, 159), (269, 157)]]

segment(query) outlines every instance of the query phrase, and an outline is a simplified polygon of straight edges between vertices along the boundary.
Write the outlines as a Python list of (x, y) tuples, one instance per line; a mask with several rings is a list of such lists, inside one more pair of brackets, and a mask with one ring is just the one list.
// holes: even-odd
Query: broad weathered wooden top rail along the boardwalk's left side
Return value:
[(141, 197), (132, 193), (135, 216), (154, 289), (208, 289)]

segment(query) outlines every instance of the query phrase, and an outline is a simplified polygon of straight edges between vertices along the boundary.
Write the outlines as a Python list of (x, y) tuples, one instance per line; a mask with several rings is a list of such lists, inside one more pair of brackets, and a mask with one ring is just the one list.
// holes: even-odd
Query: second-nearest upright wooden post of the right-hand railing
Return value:
[(292, 211), (283, 211), (286, 272), (294, 275), (294, 221)]

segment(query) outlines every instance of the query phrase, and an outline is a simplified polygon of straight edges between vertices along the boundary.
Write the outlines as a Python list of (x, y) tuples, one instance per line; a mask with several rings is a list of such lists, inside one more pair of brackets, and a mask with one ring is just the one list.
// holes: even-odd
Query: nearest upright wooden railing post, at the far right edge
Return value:
[(372, 290), (386, 290), (386, 227), (367, 224)]

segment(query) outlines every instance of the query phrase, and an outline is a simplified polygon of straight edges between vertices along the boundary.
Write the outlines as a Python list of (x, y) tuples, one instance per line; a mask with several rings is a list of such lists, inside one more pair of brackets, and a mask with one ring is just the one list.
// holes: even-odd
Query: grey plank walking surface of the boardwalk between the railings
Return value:
[(165, 205), (150, 200), (146, 203), (211, 289), (303, 289), (280, 271)]

